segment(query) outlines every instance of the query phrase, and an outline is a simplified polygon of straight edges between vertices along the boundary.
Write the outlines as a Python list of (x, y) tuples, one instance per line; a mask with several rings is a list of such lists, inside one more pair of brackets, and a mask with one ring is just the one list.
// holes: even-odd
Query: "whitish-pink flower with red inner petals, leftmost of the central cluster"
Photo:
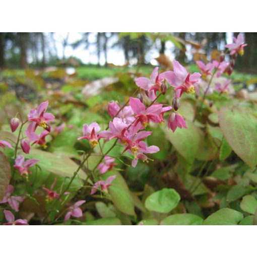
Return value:
[(78, 138), (78, 140), (87, 139), (89, 144), (92, 147), (96, 147), (98, 144), (98, 140), (103, 138), (100, 134), (96, 134), (100, 131), (100, 126), (97, 122), (93, 122), (90, 125), (84, 124), (83, 125), (83, 137)]

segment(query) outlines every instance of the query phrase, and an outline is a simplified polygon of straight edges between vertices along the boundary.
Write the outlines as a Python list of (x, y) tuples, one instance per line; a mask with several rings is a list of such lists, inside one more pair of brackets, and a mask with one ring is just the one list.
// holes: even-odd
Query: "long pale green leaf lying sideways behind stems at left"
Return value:
[[(26, 157), (39, 160), (38, 165), (40, 167), (61, 176), (72, 177), (79, 167), (74, 161), (65, 155), (48, 153), (38, 149), (31, 149), (30, 153), (27, 154)], [(79, 171), (79, 176), (82, 179), (87, 178), (87, 175), (83, 170)]]

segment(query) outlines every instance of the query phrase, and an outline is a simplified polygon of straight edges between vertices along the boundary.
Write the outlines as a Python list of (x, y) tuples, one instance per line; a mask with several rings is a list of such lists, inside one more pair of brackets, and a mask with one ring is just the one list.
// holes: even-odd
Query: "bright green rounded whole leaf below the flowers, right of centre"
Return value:
[(180, 196), (175, 189), (163, 188), (150, 195), (145, 202), (145, 206), (149, 211), (168, 213), (173, 210), (178, 202)]

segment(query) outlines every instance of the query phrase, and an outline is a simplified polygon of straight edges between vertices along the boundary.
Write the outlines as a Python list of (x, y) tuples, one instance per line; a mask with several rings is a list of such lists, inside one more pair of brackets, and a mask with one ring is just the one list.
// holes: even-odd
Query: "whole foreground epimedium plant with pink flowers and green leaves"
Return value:
[(81, 136), (48, 101), (18, 113), (0, 132), (3, 225), (256, 224), (256, 104), (228, 78), (245, 46), (135, 78), (124, 104), (78, 118)]

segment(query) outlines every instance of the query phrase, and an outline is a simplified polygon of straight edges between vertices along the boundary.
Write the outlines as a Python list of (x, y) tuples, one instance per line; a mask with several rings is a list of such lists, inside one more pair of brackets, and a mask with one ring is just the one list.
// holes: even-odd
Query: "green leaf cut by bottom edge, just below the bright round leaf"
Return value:
[(181, 213), (166, 217), (160, 225), (200, 225), (202, 222), (203, 219), (197, 215)]

